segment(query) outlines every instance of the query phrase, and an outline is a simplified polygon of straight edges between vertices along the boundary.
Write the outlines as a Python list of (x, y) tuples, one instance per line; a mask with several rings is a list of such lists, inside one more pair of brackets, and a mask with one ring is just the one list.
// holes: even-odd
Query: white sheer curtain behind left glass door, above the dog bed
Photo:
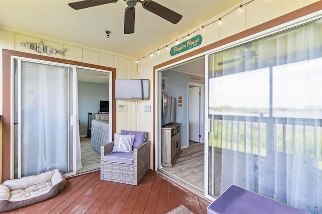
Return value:
[[(72, 100), (69, 100), (71, 81), (68, 75), (69, 68), (66, 67), (22, 62), (21, 176), (54, 168), (63, 173), (72, 171), (72, 152), (69, 151), (69, 148), (72, 149), (72, 138), (69, 138), (72, 132), (69, 132), (68, 110), (72, 104), (77, 105), (78, 102), (72, 103)], [(76, 129), (79, 169), (82, 168), (82, 164), (79, 156), (81, 151), (78, 126)]]

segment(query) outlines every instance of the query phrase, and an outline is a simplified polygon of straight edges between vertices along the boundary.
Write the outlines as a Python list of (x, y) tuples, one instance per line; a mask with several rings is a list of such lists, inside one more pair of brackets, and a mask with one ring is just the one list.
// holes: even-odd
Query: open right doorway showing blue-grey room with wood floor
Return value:
[[(161, 164), (162, 158), (159, 158), (158, 170), (201, 195), (204, 195), (204, 72), (205, 60), (203, 56), (159, 72), (160, 93), (176, 97), (178, 101), (176, 123), (181, 124), (182, 152), (172, 167), (163, 166)], [(196, 93), (189, 91), (190, 87), (194, 88), (191, 90)], [(200, 92), (201, 95), (199, 95)], [(190, 97), (189, 94), (193, 97)], [(190, 102), (195, 106), (189, 106)], [(158, 114), (162, 118), (162, 97), (158, 103)], [(189, 109), (192, 110), (191, 116), (188, 113)], [(198, 113), (195, 114), (196, 112)], [(161, 130), (161, 128), (160, 125), (159, 129)], [(191, 132), (196, 137), (192, 141), (190, 141)], [(160, 133), (159, 136), (161, 137), (162, 134)], [(160, 139), (158, 148), (161, 146), (162, 140)]]

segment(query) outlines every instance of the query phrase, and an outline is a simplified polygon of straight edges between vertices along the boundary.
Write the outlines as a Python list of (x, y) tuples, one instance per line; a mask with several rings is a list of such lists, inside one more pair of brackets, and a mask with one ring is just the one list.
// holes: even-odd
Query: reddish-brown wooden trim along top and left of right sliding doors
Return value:
[[(311, 5), (308, 5), (306, 7), (300, 8), (300, 9), (298, 9), (296, 11), (293, 11), (293, 12), (290, 12), (288, 14), (285, 14), (285, 15), (283, 15), (281, 17), (278, 17), (278, 18), (275, 18), (275, 19), (270, 20), (268, 22), (265, 22), (265, 23), (263, 23), (261, 25), (255, 26), (255, 27), (250, 28), (248, 30), (245, 30), (245, 31), (239, 32), (237, 34), (234, 34), (234, 35), (232, 35), (230, 37), (227, 37), (227, 38), (224, 38), (224, 39), (219, 40), (217, 42), (211, 43), (211, 44), (209, 44), (207, 46), (201, 47), (201, 48), (199, 48), (197, 50), (191, 51), (191, 52), (189, 52), (187, 54), (184, 54), (184, 55), (179, 56), (177, 58), (171, 59), (171, 60), (169, 60), (167, 62), (155, 65), (153, 67), (153, 83), (155, 85), (155, 78), (156, 78), (155, 77), (155, 70), (157, 70), (159, 68), (168, 66), (170, 64), (174, 64), (176, 62), (188, 59), (188, 58), (196, 56), (196, 55), (200, 55), (200, 54), (205, 53), (207, 51), (210, 51), (212, 49), (218, 48), (220, 46), (226, 45), (228, 43), (237, 41), (239, 39), (246, 38), (248, 36), (251, 36), (251, 35), (254, 35), (254, 34), (257, 34), (257, 33), (260, 33), (260, 32), (263, 32), (263, 31), (268, 30), (270, 28), (274, 28), (276, 26), (285, 24), (287, 22), (290, 22), (290, 21), (293, 21), (295, 19), (301, 18), (303, 16), (312, 14), (314, 12), (318, 12), (320, 10), (322, 10), (322, 0), (320, 0), (319, 2), (316, 2), (316, 3), (313, 3)], [(153, 100), (155, 100), (155, 90), (156, 90), (156, 88), (154, 87), (153, 88)], [(155, 120), (154, 120), (155, 119), (155, 114), (156, 114), (155, 113), (155, 105), (153, 105), (153, 136), (154, 136), (154, 139), (155, 139)], [(155, 169), (155, 158), (154, 158), (155, 157), (156, 143), (157, 143), (157, 139), (155, 139), (154, 144), (153, 144), (153, 170), (154, 171), (157, 170), (157, 169)]]

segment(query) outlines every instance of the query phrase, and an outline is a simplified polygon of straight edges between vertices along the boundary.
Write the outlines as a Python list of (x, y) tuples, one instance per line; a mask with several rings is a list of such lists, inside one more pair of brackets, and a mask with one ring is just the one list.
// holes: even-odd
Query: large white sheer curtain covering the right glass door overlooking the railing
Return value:
[(234, 184), (322, 213), (321, 37), (318, 20), (234, 48), (233, 65), (221, 53), (209, 80), (220, 193)]

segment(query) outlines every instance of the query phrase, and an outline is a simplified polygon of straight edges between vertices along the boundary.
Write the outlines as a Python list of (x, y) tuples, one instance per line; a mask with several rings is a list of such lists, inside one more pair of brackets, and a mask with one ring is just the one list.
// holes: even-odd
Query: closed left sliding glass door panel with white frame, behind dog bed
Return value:
[(75, 174), (75, 69), (20, 59), (14, 65), (14, 177), (54, 168)]

